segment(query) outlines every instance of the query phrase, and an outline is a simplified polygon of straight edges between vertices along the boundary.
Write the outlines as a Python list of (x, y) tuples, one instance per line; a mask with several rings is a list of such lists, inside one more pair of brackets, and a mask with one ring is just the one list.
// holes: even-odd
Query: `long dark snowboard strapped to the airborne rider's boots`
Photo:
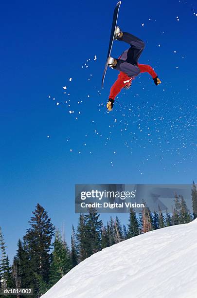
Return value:
[(110, 35), (110, 39), (109, 39), (109, 47), (108, 47), (108, 52), (107, 52), (107, 61), (106, 61), (106, 66), (105, 66), (105, 70), (104, 70), (103, 77), (102, 77), (102, 88), (103, 89), (104, 89), (104, 80), (105, 80), (105, 76), (106, 76), (106, 72), (107, 72), (107, 66), (108, 66), (108, 58), (111, 55), (111, 49), (112, 49), (112, 46), (113, 46), (115, 29), (116, 29), (116, 24), (117, 24), (118, 12), (119, 12), (120, 5), (121, 5), (121, 1), (119, 1), (116, 4), (116, 7), (115, 7), (114, 12), (113, 12), (111, 35)]

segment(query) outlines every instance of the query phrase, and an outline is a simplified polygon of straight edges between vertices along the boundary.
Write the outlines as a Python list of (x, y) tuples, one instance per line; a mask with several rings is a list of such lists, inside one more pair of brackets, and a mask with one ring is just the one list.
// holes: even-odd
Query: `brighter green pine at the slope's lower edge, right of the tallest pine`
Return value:
[[(60, 232), (55, 232), (54, 251), (50, 266), (50, 285), (53, 286), (72, 268), (68, 245), (63, 242)], [(42, 287), (44, 284), (42, 283)]]

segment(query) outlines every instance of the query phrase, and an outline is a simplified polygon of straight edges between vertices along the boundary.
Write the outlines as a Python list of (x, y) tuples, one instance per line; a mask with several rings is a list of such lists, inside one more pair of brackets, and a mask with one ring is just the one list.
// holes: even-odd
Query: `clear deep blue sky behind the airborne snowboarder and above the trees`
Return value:
[[(10, 258), (37, 203), (70, 242), (74, 184), (196, 179), (197, 3), (123, 0), (118, 24), (146, 42), (139, 62), (162, 84), (140, 75), (107, 113), (118, 72), (107, 71), (103, 91), (101, 78), (115, 4), (1, 3), (0, 226)], [(116, 41), (112, 56), (126, 48)]]

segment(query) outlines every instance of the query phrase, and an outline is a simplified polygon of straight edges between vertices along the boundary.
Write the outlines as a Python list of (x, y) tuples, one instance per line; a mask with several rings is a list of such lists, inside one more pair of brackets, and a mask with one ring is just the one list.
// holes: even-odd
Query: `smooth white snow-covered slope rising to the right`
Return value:
[(197, 298), (197, 220), (92, 255), (42, 298)]

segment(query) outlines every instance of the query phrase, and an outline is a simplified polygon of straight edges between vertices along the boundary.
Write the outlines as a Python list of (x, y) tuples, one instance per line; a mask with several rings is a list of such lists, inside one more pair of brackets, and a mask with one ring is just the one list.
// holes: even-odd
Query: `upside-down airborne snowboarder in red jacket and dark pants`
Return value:
[(116, 95), (121, 91), (122, 88), (129, 89), (132, 80), (137, 75), (147, 72), (152, 76), (155, 85), (158, 86), (161, 84), (161, 80), (158, 78), (151, 66), (138, 63), (138, 59), (145, 46), (143, 40), (130, 33), (122, 32), (118, 26), (115, 29), (114, 38), (116, 40), (125, 41), (126, 43), (130, 44), (130, 48), (127, 49), (118, 59), (114, 59), (112, 57), (109, 57), (108, 59), (108, 66), (112, 69), (120, 71), (118, 79), (110, 89), (109, 99), (107, 102), (108, 111), (113, 109)]

